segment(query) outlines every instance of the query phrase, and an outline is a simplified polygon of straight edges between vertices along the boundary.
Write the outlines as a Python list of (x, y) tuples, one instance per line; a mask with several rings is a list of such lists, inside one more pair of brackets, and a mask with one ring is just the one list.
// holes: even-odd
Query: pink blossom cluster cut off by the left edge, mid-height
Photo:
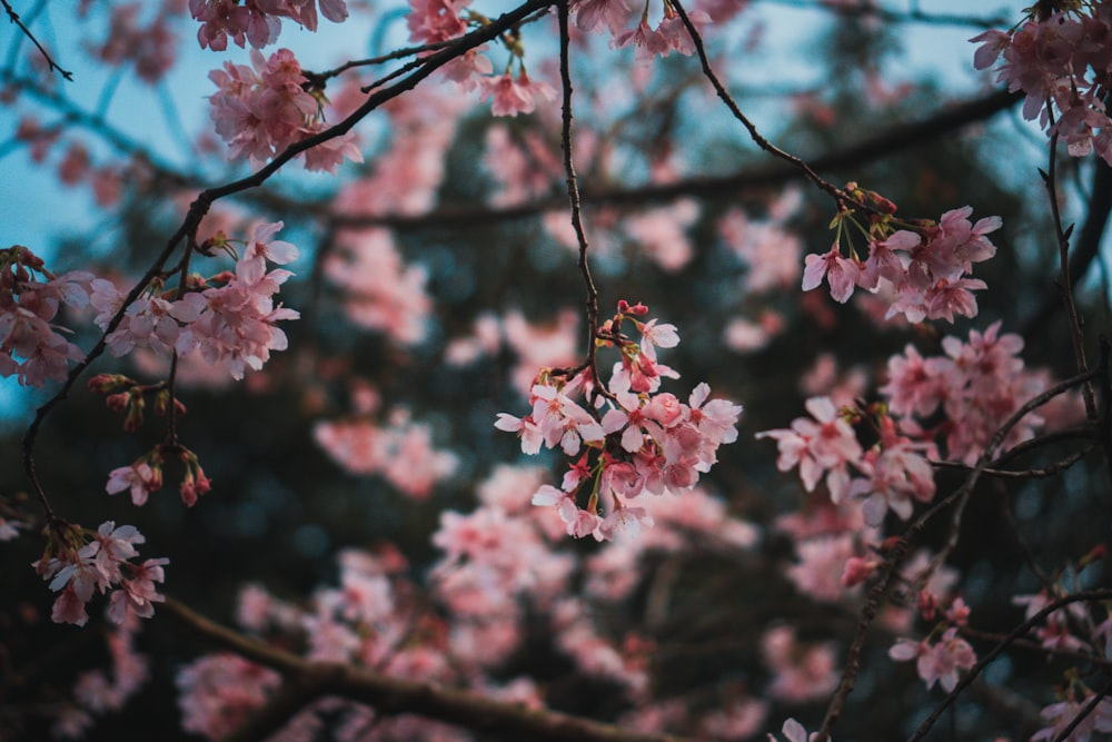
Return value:
[(54, 276), (22, 245), (0, 250), (0, 376), (17, 376), (23, 386), (66, 379), (69, 362), (85, 354), (53, 319), (62, 304), (88, 306), (92, 280), (83, 271)]

